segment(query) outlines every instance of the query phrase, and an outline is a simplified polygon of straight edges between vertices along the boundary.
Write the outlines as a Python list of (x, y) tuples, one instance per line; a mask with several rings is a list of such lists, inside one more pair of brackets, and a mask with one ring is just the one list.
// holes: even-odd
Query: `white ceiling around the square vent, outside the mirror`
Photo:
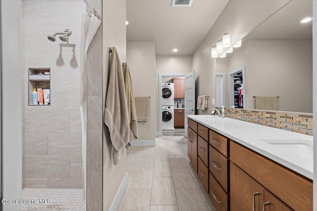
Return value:
[(192, 55), (228, 1), (171, 7), (171, 0), (127, 0), (127, 42), (154, 41), (157, 55)]

